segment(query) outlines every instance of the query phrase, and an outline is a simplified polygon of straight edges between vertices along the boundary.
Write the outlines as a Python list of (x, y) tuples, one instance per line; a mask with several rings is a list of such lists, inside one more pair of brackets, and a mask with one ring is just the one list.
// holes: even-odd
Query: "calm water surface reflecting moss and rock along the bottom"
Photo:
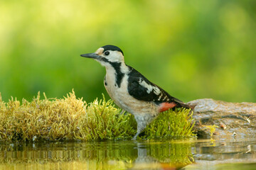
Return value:
[(0, 169), (256, 169), (256, 140), (0, 145)]

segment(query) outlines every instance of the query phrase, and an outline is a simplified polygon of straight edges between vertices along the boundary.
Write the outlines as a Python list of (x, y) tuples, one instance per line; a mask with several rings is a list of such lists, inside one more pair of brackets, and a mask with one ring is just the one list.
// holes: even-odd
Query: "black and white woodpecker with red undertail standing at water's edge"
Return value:
[(117, 106), (132, 113), (137, 121), (137, 134), (132, 140), (136, 140), (159, 113), (170, 108), (191, 108), (125, 64), (124, 53), (117, 46), (105, 45), (96, 52), (80, 56), (92, 58), (106, 68), (104, 86), (107, 93)]

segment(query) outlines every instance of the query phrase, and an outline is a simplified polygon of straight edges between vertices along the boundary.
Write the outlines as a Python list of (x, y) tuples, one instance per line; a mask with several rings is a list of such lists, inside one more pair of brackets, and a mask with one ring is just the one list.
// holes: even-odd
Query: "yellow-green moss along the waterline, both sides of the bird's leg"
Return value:
[[(136, 121), (131, 114), (120, 114), (113, 102), (103, 99), (87, 104), (72, 91), (64, 98), (41, 99), (40, 92), (31, 102), (0, 94), (0, 140), (119, 140), (131, 139)], [(143, 138), (193, 136), (192, 117), (185, 109), (166, 111), (145, 130)]]

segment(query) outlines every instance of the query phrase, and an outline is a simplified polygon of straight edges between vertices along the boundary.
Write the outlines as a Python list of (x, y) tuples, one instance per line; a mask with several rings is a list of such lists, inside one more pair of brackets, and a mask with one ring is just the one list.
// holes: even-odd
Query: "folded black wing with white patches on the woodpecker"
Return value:
[(128, 92), (131, 96), (140, 101), (154, 101), (155, 103), (175, 102), (182, 103), (178, 98), (170, 96), (164, 89), (151, 83), (146, 77), (131, 69), (128, 79)]

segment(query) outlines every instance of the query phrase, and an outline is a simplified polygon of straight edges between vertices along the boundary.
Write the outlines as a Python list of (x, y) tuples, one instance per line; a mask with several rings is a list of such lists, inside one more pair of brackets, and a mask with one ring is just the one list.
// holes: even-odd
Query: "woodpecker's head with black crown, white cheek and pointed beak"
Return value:
[(81, 57), (92, 58), (100, 62), (103, 66), (107, 66), (111, 62), (124, 62), (124, 53), (114, 45), (105, 45), (96, 50), (96, 52), (80, 55)]

